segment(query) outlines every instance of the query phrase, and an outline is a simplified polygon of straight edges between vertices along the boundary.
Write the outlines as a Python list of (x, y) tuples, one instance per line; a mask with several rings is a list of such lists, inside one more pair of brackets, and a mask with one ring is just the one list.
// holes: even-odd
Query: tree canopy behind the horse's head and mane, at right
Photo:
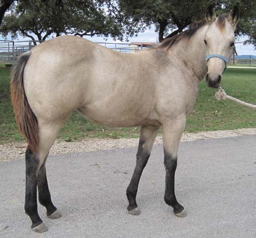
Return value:
[(158, 41), (172, 37), (189, 24), (202, 19), (206, 8), (212, 5), (217, 13), (228, 13), (234, 5), (240, 9), (241, 20), (237, 35), (249, 36), (248, 42), (255, 44), (256, 1), (249, 0), (117, 0), (121, 11), (134, 22), (144, 26), (154, 25)]

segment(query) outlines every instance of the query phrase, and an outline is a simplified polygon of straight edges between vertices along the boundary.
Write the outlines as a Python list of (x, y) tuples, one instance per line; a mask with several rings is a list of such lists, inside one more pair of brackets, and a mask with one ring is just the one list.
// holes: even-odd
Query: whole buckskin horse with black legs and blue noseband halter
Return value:
[(204, 20), (135, 54), (115, 52), (88, 40), (61, 36), (22, 54), (12, 71), (11, 98), (18, 128), (27, 141), (25, 212), (31, 228), (48, 228), (38, 214), (39, 202), (49, 218), (61, 217), (51, 201), (46, 159), (63, 124), (74, 110), (89, 120), (116, 127), (141, 126), (136, 167), (126, 195), (127, 210), (139, 215), (139, 180), (160, 126), (166, 168), (165, 202), (178, 217), (186, 211), (177, 201), (174, 177), (186, 116), (200, 82), (218, 87), (234, 46), (239, 10)]

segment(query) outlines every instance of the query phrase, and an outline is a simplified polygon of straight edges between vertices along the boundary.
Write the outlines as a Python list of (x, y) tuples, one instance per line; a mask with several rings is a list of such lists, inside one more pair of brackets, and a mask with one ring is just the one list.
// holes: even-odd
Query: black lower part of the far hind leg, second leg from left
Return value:
[(51, 201), (51, 194), (48, 187), (45, 163), (40, 168), (38, 174), (38, 196), (39, 202), (46, 208), (47, 216), (52, 215), (57, 209)]

